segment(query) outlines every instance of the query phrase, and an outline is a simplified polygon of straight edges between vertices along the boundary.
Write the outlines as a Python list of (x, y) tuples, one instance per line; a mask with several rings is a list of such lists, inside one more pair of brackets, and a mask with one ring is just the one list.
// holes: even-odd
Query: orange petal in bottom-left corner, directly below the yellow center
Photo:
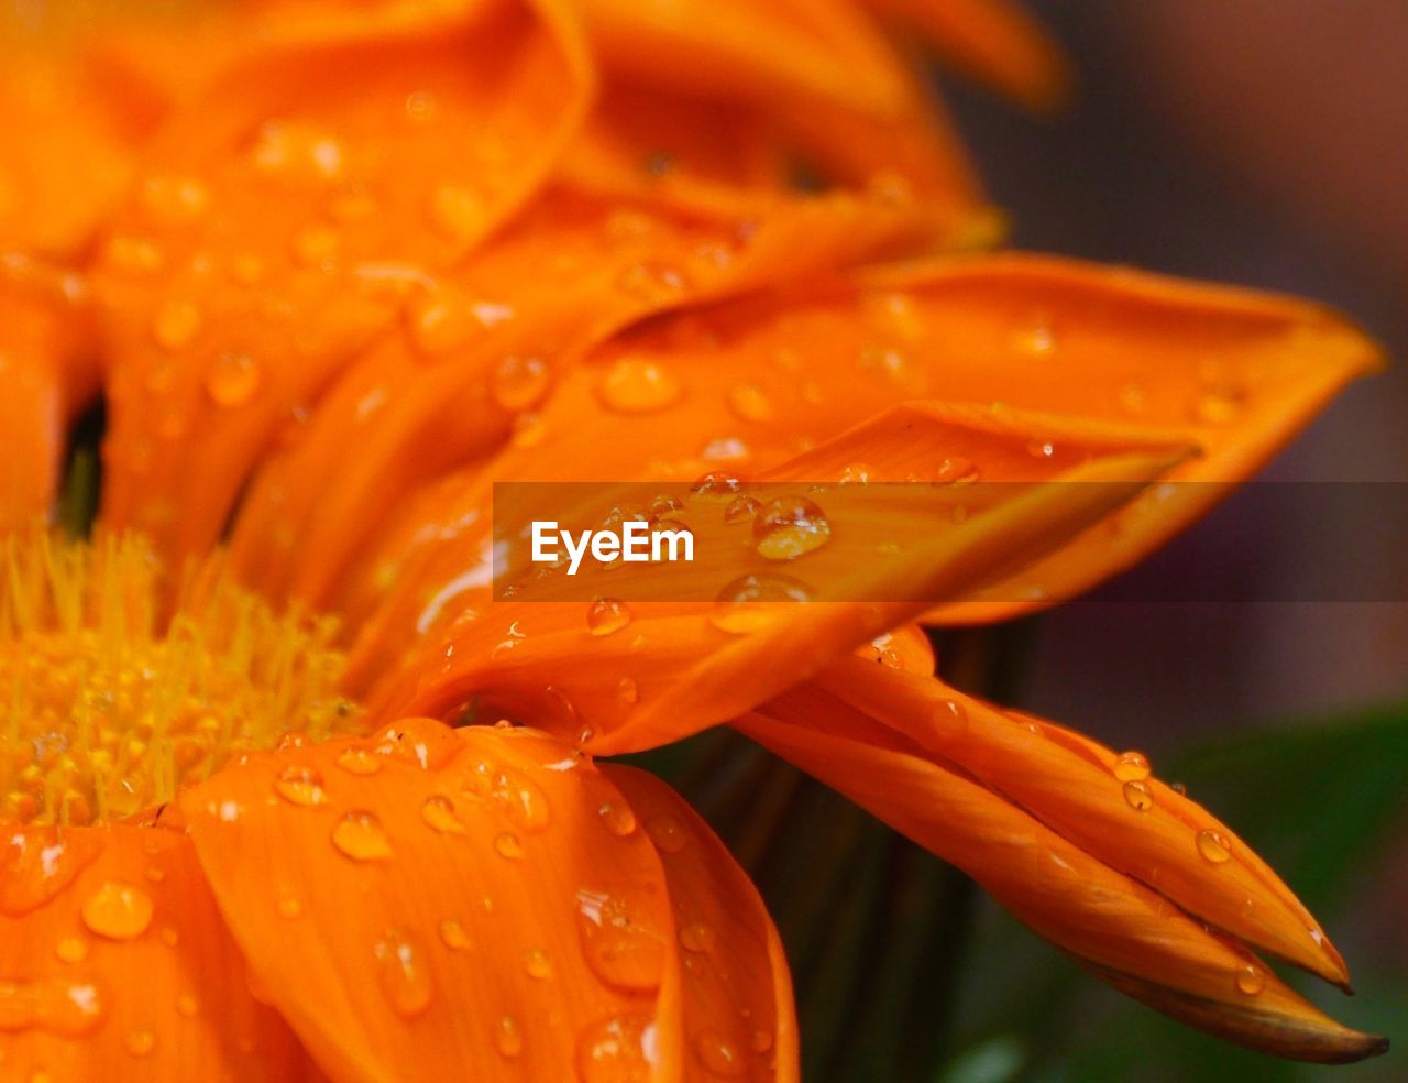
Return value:
[(249, 993), (190, 841), (161, 827), (4, 830), (0, 1056), (11, 1079), (307, 1079)]

